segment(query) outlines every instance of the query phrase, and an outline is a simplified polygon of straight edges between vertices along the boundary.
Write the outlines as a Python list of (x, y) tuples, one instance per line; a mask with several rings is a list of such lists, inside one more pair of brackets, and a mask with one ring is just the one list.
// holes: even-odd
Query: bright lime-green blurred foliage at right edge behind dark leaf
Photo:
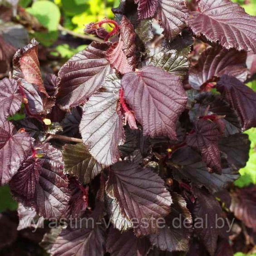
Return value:
[(239, 170), (241, 177), (235, 181), (235, 185), (238, 187), (245, 187), (251, 183), (256, 184), (256, 128), (251, 128), (245, 133), (249, 135), (251, 149), (246, 166)]

